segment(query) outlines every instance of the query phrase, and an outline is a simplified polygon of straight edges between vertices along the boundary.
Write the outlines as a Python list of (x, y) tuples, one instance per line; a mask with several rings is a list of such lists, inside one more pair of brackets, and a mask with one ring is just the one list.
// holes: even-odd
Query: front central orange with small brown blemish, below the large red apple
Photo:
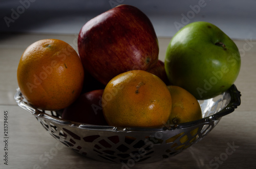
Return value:
[(106, 122), (116, 127), (154, 127), (167, 122), (172, 98), (165, 83), (144, 70), (114, 77), (102, 95)]

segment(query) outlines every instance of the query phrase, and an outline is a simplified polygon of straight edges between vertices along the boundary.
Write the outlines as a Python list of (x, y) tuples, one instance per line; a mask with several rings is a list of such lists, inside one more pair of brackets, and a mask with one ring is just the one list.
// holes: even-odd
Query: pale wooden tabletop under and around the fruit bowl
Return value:
[[(13, 97), (18, 87), (16, 71), (20, 56), (28, 45), (46, 38), (64, 40), (77, 49), (77, 35), (0, 35), (0, 168), (127, 168), (91, 160), (60, 146), (33, 115), (17, 106)], [(164, 60), (169, 40), (159, 37), (160, 60)], [(234, 83), (242, 94), (241, 105), (224, 116), (205, 138), (182, 153), (131, 168), (256, 167), (256, 42), (250, 39), (234, 42), (242, 56), (240, 74)], [(4, 128), (5, 121), (8, 129)], [(8, 138), (5, 138), (5, 129)], [(233, 151), (227, 152), (227, 149)], [(57, 152), (52, 153), (53, 150)], [(5, 160), (6, 152), (8, 160)]]

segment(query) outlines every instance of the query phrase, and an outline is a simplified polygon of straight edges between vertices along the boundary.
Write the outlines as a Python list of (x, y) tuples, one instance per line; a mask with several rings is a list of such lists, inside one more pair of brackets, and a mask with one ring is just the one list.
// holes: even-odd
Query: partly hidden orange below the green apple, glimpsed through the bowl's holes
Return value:
[[(168, 124), (178, 125), (202, 118), (200, 104), (194, 95), (179, 86), (170, 85), (167, 86), (167, 88), (172, 95), (172, 112), (170, 113)], [(190, 131), (189, 134), (193, 137), (193, 139), (189, 140), (190, 143), (197, 138), (197, 132), (198, 128)], [(184, 132), (167, 139), (166, 143), (174, 142), (182, 134), (184, 134)], [(181, 143), (188, 141), (188, 136), (184, 135), (179, 141)], [(176, 150), (183, 146), (177, 147)]]

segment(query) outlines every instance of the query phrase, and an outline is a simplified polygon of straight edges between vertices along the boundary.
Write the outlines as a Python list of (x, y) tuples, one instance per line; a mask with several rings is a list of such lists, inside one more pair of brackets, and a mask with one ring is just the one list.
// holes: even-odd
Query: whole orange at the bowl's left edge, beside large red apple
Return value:
[(24, 98), (43, 110), (63, 109), (81, 92), (83, 67), (66, 42), (42, 39), (27, 47), (20, 58), (17, 81)]

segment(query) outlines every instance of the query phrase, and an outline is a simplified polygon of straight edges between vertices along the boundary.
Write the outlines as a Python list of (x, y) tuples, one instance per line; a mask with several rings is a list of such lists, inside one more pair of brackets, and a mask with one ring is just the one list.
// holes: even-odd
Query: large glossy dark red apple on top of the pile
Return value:
[(78, 35), (84, 69), (106, 85), (129, 70), (150, 70), (158, 61), (158, 39), (138, 8), (119, 5), (89, 20)]

